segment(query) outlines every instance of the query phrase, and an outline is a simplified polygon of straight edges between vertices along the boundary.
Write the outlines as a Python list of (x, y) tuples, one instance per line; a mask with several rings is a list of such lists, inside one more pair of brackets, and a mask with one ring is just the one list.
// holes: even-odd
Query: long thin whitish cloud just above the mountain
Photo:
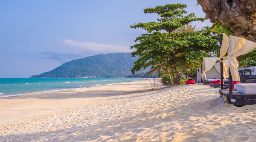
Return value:
[(95, 42), (80, 42), (71, 39), (66, 39), (63, 41), (66, 45), (71, 47), (79, 47), (81, 49), (87, 49), (90, 51), (100, 52), (100, 53), (115, 53), (115, 52), (132, 52), (128, 46), (119, 45), (104, 45)]

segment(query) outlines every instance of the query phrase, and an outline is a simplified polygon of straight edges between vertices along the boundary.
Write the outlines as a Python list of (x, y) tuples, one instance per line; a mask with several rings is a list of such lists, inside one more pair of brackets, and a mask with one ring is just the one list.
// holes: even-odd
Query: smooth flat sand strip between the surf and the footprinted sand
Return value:
[[(99, 87), (74, 88), (2, 97), (0, 98), (0, 116), (2, 116), (0, 117), (0, 125), (22, 120), (24, 117), (63, 111), (65, 109), (69, 110), (117, 95), (145, 91), (149, 89), (149, 85), (149, 80), (130, 81)], [(158, 86), (164, 87), (160, 82)]]

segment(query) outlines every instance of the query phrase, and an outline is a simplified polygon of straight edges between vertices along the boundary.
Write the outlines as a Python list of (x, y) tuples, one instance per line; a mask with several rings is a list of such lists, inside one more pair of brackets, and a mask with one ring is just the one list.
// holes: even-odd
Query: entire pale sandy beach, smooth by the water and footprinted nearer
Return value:
[(224, 103), (208, 85), (141, 90), (150, 87), (138, 81), (0, 99), (0, 141), (256, 141), (256, 105)]

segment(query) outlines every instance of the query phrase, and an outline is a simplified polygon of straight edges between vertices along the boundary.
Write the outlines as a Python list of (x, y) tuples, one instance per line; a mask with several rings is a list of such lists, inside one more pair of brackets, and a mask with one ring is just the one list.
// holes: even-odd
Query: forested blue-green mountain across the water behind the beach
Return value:
[(126, 77), (131, 75), (130, 70), (137, 59), (138, 57), (131, 57), (130, 53), (99, 54), (68, 61), (50, 72), (31, 77)]

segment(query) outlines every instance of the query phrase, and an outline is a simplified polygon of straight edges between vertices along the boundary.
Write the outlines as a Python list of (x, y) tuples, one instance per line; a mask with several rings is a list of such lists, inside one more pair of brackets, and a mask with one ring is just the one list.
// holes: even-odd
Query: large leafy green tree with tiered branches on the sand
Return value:
[[(141, 68), (151, 67), (151, 72), (166, 69), (170, 80), (179, 84), (180, 76), (195, 63), (195, 60), (210, 55), (219, 48), (218, 36), (210, 34), (210, 28), (200, 31), (177, 31), (191, 21), (204, 21), (187, 14), (185, 4), (166, 4), (155, 8), (146, 8), (144, 13), (156, 13), (161, 18), (158, 22), (135, 23), (131, 28), (143, 28), (148, 33), (135, 39), (139, 43), (131, 46), (136, 51), (132, 56), (139, 56), (132, 68), (132, 73)], [(152, 33), (153, 32), (153, 33)]]

